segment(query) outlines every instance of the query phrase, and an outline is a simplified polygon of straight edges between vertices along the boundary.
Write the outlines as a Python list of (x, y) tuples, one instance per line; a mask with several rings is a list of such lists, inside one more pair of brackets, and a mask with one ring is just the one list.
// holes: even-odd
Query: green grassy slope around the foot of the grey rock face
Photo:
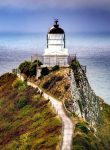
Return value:
[(110, 149), (110, 106), (101, 98), (100, 116), (96, 131), (89, 124), (74, 116), (75, 136), (73, 138), (73, 150), (109, 150)]

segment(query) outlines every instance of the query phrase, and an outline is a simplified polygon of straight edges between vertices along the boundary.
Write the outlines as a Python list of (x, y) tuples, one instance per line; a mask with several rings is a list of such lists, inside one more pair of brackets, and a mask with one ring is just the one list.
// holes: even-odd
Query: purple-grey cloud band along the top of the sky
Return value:
[(109, 7), (110, 0), (0, 0), (0, 7), (14, 8), (76, 8)]

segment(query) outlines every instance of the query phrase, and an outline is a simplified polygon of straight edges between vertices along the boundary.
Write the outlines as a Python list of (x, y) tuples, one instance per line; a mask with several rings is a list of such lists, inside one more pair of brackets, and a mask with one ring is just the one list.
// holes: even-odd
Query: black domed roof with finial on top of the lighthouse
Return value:
[(58, 19), (55, 20), (54, 25), (50, 30), (48, 31), (49, 34), (64, 34), (64, 30), (59, 27)]

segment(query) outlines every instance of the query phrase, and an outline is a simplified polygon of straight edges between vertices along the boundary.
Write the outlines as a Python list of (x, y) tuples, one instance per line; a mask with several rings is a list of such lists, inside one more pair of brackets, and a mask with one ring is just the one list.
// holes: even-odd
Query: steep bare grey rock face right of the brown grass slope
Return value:
[(95, 125), (98, 119), (100, 107), (98, 98), (91, 89), (86, 74), (81, 67), (70, 71), (71, 99), (68, 100), (68, 109), (79, 117), (84, 118), (91, 125)]

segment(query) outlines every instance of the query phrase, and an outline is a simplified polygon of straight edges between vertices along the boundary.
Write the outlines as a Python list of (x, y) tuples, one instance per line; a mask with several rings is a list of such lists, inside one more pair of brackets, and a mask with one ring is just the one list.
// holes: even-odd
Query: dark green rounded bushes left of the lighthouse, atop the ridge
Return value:
[(32, 63), (30, 61), (24, 61), (19, 65), (19, 70), (27, 77), (32, 77), (36, 75), (36, 68), (41, 65), (42, 63), (39, 60), (35, 60)]

